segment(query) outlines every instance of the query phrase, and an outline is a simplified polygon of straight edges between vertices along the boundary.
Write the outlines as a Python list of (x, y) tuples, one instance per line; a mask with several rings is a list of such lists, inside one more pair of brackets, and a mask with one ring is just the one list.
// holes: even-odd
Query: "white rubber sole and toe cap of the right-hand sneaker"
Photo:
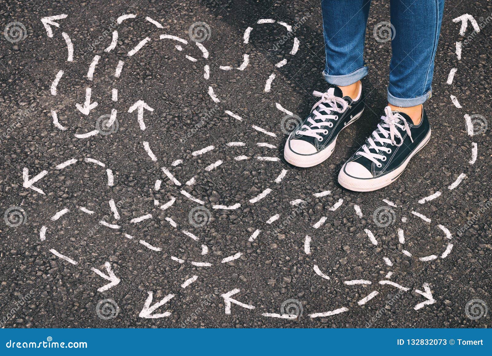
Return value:
[(403, 162), (400, 167), (397, 169), (386, 173), (385, 175), (377, 178), (366, 178), (366, 179), (359, 179), (359, 178), (354, 178), (352, 176), (349, 176), (344, 172), (345, 164), (340, 169), (340, 172), (338, 173), (338, 183), (346, 189), (349, 189), (351, 191), (355, 192), (372, 192), (376, 191), (378, 189), (384, 188), (400, 177), (400, 174), (403, 173), (403, 170), (406, 168), (406, 165), (408, 162), (410, 162), (410, 159), (415, 156), (421, 149), (425, 147), (431, 140), (431, 130), (429, 129), (429, 133), (426, 135), (426, 137), (422, 140), (422, 142), (417, 146), (417, 149)]

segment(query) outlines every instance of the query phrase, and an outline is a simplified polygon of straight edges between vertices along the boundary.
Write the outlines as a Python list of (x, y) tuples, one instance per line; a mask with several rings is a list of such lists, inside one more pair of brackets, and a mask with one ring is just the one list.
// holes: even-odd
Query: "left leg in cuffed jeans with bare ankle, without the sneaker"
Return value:
[(344, 96), (355, 98), (364, 66), (364, 39), (370, 0), (322, 0), (325, 38), (325, 80), (337, 85)]

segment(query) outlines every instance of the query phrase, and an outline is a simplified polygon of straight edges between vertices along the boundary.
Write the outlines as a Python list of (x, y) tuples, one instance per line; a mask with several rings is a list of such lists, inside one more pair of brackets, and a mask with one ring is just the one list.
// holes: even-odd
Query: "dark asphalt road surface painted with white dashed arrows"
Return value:
[(308, 169), (282, 152), (326, 88), (319, 1), (0, 14), (1, 326), (491, 325), (489, 1), (446, 1), (432, 139), (370, 193), (337, 176), (386, 104), (388, 1), (366, 110)]

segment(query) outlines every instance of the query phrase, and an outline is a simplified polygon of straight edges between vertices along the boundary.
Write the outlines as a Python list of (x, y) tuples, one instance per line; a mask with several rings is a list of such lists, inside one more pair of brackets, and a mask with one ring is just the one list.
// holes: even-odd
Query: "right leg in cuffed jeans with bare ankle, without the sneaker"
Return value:
[(392, 0), (388, 102), (405, 112), (414, 124), (421, 120), (422, 105), (431, 97), (434, 57), (441, 28), (444, 0)]

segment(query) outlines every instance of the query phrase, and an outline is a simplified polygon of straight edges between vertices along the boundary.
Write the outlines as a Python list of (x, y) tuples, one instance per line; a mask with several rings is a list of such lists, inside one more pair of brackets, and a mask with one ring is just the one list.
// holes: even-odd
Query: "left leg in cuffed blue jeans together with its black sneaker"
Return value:
[(319, 100), (289, 134), (285, 161), (298, 167), (325, 161), (335, 150), (340, 131), (361, 117), (364, 95), (360, 80), (368, 73), (363, 54), (369, 5), (370, 0), (321, 1), (326, 50), (323, 76), (330, 86), (313, 93)]

